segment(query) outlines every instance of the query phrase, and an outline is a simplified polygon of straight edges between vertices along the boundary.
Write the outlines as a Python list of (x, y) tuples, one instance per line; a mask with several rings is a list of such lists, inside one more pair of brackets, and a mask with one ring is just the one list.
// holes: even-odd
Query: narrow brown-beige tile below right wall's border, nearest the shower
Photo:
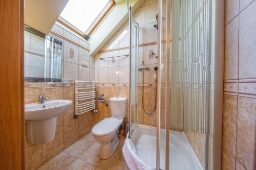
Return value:
[(222, 147), (236, 157), (237, 147), (237, 96), (223, 96)]

